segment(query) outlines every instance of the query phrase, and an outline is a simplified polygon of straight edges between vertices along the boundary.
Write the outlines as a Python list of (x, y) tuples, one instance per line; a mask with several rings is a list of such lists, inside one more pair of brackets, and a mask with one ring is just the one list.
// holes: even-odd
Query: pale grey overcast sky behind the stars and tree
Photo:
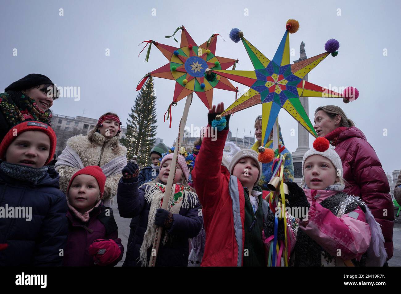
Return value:
[[(331, 38), (340, 42), (338, 56), (328, 56), (310, 74), (311, 83), (322, 87), (354, 86), (360, 91), (358, 100), (344, 104), (342, 99), (310, 98), (309, 114), (317, 107), (338, 105), (366, 135), (386, 173), (401, 168), (400, 156), (400, 83), (399, 1), (5, 1), (0, 0), (2, 46), (0, 56), (0, 89), (29, 73), (47, 75), (57, 86), (80, 87), (80, 100), (61, 98), (51, 110), (68, 116), (98, 118), (112, 111), (126, 125), (134, 104), (136, 85), (147, 73), (168, 60), (154, 46), (149, 62), (142, 62), (146, 50), (138, 58), (143, 40), (156, 40), (178, 46), (173, 38), (164, 38), (184, 25), (197, 44), (217, 32), (217, 56), (239, 58), (237, 70), (253, 66), (242, 43), (229, 38), (237, 27), (267, 58), (272, 59), (284, 34), (286, 21), (294, 18), (300, 29), (290, 36), (290, 48), (299, 58), (305, 42), (308, 57), (323, 53), (324, 43)], [(286, 3), (287, 6), (284, 6)], [(60, 16), (63, 9), (63, 16)], [(152, 15), (156, 14), (156, 15)], [(341, 14), (340, 16), (338, 14)], [(180, 32), (176, 34), (180, 40)], [(13, 56), (17, 49), (17, 56)], [(106, 56), (106, 49), (110, 55)], [(14, 51), (13, 51), (14, 50)], [(383, 52), (387, 52), (383, 54)], [(15, 53), (14, 53), (15, 54)], [(398, 55), (397, 55), (398, 54)], [(171, 103), (174, 81), (156, 78), (157, 137), (172, 144), (185, 99), (173, 108), (172, 127), (163, 122)], [(245, 86), (233, 82), (244, 93)], [(214, 103), (229, 106), (235, 93), (216, 89)], [(253, 134), (255, 117), (261, 105), (236, 113), (230, 129), (238, 137)], [(280, 111), (286, 147), (298, 146), (298, 122), (284, 109)], [(187, 125), (207, 124), (207, 109), (196, 95), (190, 107)], [(295, 129), (295, 136), (291, 136)], [(387, 136), (383, 135), (387, 129)], [(312, 145), (312, 136), (310, 136)]]

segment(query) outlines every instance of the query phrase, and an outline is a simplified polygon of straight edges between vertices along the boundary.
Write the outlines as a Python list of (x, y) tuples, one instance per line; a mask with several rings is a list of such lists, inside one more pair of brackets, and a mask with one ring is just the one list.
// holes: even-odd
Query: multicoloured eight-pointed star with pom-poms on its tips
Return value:
[[(304, 80), (308, 72), (330, 53), (332, 56), (337, 55), (338, 52), (336, 50), (339, 48), (337, 40), (331, 39), (326, 42), (325, 49), (327, 52), (295, 64), (290, 64), (290, 33), (296, 32), (298, 28), (298, 21), (288, 20), (286, 25), (287, 30), (273, 60), (269, 60), (264, 56), (243, 37), (243, 32), (235, 28), (230, 32), (230, 38), (234, 42), (239, 42), (240, 40), (243, 42), (254, 70), (219, 70), (213, 68), (213, 72), (217, 75), (250, 87), (247, 92), (223, 111), (221, 115), (229, 115), (256, 104), (262, 104), (263, 146), (267, 143), (269, 134), (282, 108), (290, 113), (309, 133), (317, 137), (316, 131), (304, 107), (301, 105), (300, 97), (344, 98), (344, 102), (346, 103), (347, 101), (352, 101), (352, 99), (349, 99), (352, 95), (348, 95), (348, 93), (341, 95)], [(353, 87), (348, 88), (352, 88), (351, 90), (355, 89)], [(355, 91), (357, 92), (357, 90)]]

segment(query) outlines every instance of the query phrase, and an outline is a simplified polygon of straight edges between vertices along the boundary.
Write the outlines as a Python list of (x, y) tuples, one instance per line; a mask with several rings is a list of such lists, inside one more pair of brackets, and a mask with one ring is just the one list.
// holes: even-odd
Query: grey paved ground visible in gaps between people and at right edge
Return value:
[[(117, 199), (115, 199), (112, 208), (115, 222), (117, 222), (118, 226), (118, 237), (121, 238), (122, 244), (124, 245), (123, 259), (121, 262), (117, 264), (117, 266), (122, 266), (127, 251), (127, 243), (128, 243), (128, 236), (130, 235), (131, 219), (120, 217), (117, 209)], [(394, 223), (394, 232), (393, 232), (394, 255), (389, 260), (389, 266), (401, 266), (401, 213), (398, 219), (400, 223), (399, 224), (396, 222)]]

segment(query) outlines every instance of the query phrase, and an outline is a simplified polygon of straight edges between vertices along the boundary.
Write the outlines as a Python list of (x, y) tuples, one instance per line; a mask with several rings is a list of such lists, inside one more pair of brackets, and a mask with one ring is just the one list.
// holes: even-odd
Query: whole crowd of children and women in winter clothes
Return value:
[[(314, 113), (318, 138), (303, 157), (301, 186), (293, 182), (291, 153), (280, 149), (286, 204), (308, 211), (283, 224), (267, 198), (273, 162), (258, 159), (261, 115), (256, 143), (239, 149), (227, 143), (229, 115), (212, 140), (210, 128), (224, 110), (223, 103), (214, 105), (192, 152), (178, 151), (175, 170), (174, 147), (163, 143), (151, 149), (151, 165), (140, 169), (119, 143), (118, 115), (106, 109), (87, 135), (67, 141), (53, 169), (52, 87), (48, 77), (30, 74), (0, 94), (0, 266), (115, 266), (124, 255), (115, 199), (119, 215), (131, 219), (123, 266), (149, 265), (159, 226), (156, 266), (267, 266), (273, 236), (288, 241), (283, 263), (290, 266), (387, 266), (393, 256), (387, 176), (340, 107)], [(281, 129), (278, 137), (284, 146)], [(273, 147), (273, 132), (264, 147)], [(174, 192), (162, 209), (170, 172)], [(399, 203), (400, 190), (401, 178)], [(31, 209), (29, 221), (10, 214), (24, 207)]]

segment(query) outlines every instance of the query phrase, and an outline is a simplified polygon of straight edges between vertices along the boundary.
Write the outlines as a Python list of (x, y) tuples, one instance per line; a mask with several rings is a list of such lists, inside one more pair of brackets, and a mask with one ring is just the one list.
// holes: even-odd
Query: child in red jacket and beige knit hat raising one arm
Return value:
[(221, 165), (229, 116), (222, 118), (227, 123), (222, 130), (217, 128), (217, 136), (212, 138), (210, 129), (223, 110), (223, 103), (209, 110), (209, 125), (192, 171), (207, 236), (201, 266), (265, 266), (262, 230), (268, 203), (256, 185), (261, 165), (251, 149), (237, 152), (228, 169)]

